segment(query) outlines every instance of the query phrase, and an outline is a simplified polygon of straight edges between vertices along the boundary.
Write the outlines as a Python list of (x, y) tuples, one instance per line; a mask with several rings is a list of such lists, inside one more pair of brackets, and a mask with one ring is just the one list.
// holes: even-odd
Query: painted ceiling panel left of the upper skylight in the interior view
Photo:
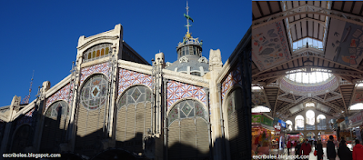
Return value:
[(252, 60), (260, 71), (289, 59), (290, 49), (282, 21), (252, 30)]

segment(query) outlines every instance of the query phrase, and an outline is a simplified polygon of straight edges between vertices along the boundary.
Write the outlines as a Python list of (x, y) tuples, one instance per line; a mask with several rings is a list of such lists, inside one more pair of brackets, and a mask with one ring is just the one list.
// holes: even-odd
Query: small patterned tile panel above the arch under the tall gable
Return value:
[[(94, 73), (103, 73), (106, 76), (108, 76), (108, 62), (105, 62), (103, 64), (98, 64), (98, 65), (92, 65), (92, 66), (87, 66), (81, 69), (81, 84), (83, 81), (85, 81), (85, 79), (89, 76), (92, 75)], [(109, 80), (110, 77), (108, 77)]]

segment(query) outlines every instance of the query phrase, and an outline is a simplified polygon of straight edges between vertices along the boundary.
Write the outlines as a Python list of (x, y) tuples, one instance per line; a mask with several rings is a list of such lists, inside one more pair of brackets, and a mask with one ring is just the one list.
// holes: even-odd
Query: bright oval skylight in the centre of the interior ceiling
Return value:
[(302, 84), (317, 84), (320, 82), (325, 82), (331, 76), (333, 75), (325, 72), (311, 72), (311, 73), (297, 72), (294, 74), (285, 75), (285, 77), (290, 81)]

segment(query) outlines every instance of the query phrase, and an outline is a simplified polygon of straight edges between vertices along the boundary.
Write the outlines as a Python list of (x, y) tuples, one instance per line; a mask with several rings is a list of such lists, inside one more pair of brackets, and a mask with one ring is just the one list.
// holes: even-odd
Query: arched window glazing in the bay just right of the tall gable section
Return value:
[(152, 93), (149, 88), (143, 85), (136, 85), (127, 89), (127, 91), (121, 96), (117, 103), (117, 109), (121, 109), (124, 105), (151, 102)]

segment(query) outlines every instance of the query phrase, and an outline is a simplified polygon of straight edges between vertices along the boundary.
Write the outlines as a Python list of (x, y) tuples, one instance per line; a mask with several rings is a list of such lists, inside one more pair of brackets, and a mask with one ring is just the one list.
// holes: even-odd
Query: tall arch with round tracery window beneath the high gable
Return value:
[(76, 106), (75, 152), (78, 154), (92, 156), (102, 149), (108, 119), (108, 87), (108, 78), (102, 73), (89, 75), (80, 87)]

